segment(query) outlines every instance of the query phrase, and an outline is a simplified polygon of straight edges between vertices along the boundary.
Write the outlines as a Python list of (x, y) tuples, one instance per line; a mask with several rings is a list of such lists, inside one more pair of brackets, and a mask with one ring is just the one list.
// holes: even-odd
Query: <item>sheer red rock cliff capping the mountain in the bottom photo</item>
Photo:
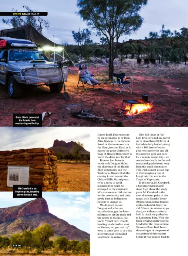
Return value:
[(37, 198), (19, 206), (0, 208), (0, 223), (37, 213), (49, 213), (48, 204), (44, 198)]

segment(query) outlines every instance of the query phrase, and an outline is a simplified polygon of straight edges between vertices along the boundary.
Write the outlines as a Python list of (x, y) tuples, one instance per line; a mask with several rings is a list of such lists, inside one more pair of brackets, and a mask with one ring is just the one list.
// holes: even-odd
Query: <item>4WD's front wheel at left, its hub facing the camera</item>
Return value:
[(14, 76), (8, 79), (8, 96), (11, 99), (18, 99), (22, 96), (22, 86), (18, 84)]

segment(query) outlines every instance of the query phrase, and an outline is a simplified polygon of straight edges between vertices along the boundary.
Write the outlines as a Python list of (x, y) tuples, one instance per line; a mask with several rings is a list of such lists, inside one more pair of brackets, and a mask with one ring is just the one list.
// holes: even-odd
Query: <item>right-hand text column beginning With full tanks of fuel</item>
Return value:
[(136, 238), (169, 238), (170, 137), (136, 137)]

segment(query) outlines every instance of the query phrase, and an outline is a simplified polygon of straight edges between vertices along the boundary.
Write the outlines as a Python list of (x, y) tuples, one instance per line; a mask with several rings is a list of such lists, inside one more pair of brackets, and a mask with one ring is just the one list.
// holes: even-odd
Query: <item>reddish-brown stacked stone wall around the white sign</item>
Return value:
[(0, 151), (0, 191), (7, 187), (8, 166), (29, 166), (29, 185), (42, 185), (42, 191), (57, 191), (57, 155), (45, 148)]

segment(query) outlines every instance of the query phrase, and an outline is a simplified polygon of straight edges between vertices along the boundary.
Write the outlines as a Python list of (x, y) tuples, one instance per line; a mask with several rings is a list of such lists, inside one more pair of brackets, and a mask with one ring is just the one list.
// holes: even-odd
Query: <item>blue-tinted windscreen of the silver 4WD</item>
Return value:
[(49, 61), (48, 58), (38, 50), (11, 50), (9, 54), (9, 61), (18, 61), (18, 60)]

